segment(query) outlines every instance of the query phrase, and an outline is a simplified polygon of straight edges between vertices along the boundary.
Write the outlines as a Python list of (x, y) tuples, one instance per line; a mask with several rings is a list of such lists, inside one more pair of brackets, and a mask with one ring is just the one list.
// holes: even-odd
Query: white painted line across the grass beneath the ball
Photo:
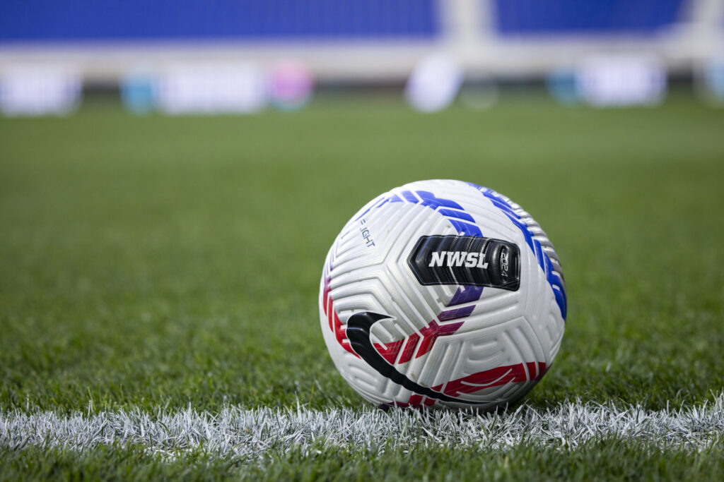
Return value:
[(589, 440), (620, 439), (663, 447), (701, 450), (724, 441), (724, 392), (714, 403), (675, 410), (640, 406), (565, 402), (536, 410), (527, 405), (509, 414), (471, 415), (435, 410), (311, 411), (305, 408), (218, 413), (141, 410), (76, 413), (0, 411), (0, 445), (83, 450), (101, 444), (139, 444), (149, 452), (179, 455), (203, 449), (216, 455), (262, 459), (298, 447), (306, 452), (326, 446), (366, 449), (407, 448), (414, 444), (505, 449), (521, 442), (549, 447), (577, 447)]

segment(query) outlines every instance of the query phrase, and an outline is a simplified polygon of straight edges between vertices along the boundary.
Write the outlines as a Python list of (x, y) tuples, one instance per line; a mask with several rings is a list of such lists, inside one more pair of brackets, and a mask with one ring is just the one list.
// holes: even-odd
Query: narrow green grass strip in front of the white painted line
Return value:
[(247, 464), (234, 458), (215, 459), (191, 452), (175, 460), (143, 452), (143, 447), (98, 447), (82, 455), (62, 449), (30, 447), (0, 449), (0, 480), (17, 475), (47, 480), (158, 480), (165, 478), (214, 481), (221, 478), (249, 480), (335, 481), (374, 480), (481, 480), (590, 481), (590, 480), (706, 480), (724, 470), (724, 452), (709, 449), (659, 449), (646, 444), (601, 440), (576, 449), (541, 448), (521, 444), (508, 452), (484, 447), (437, 447), (385, 452), (367, 457), (365, 452), (319, 447), (319, 453), (292, 450), (264, 463)]

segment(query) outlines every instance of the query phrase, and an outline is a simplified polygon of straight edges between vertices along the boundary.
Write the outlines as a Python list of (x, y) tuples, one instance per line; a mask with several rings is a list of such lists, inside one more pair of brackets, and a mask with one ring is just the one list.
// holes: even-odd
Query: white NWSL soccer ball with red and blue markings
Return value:
[(452, 180), (369, 202), (334, 240), (319, 289), (334, 365), (383, 407), (513, 403), (550, 368), (565, 311), (563, 270), (538, 223)]

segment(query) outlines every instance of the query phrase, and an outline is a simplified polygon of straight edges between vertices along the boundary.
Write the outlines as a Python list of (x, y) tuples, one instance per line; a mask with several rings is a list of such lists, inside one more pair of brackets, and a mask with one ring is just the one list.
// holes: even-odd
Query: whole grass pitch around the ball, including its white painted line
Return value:
[[(425, 178), (512, 198), (563, 262), (563, 345), (508, 413), (382, 413), (327, 355), (327, 249)], [(0, 478), (722, 473), (723, 208), (724, 111), (685, 92), (0, 119)]]

